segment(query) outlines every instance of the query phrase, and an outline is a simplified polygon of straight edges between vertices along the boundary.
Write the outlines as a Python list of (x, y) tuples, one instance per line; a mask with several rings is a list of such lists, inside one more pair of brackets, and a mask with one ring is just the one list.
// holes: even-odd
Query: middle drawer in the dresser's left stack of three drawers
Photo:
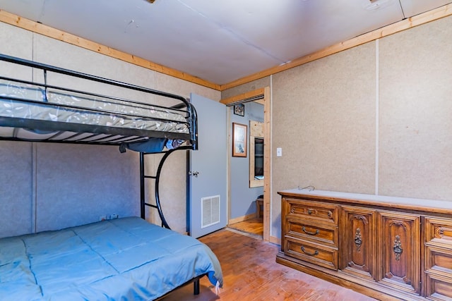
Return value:
[(288, 236), (338, 247), (338, 228), (335, 226), (287, 219), (286, 227), (285, 233)]

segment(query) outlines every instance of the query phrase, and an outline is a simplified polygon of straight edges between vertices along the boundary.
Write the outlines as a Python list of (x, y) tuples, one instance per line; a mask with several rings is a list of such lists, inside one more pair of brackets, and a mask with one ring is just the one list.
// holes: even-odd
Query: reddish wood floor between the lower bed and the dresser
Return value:
[(215, 295), (215, 287), (203, 277), (199, 295), (193, 295), (193, 285), (187, 285), (163, 300), (374, 300), (277, 264), (279, 246), (270, 242), (229, 230), (211, 233), (200, 240), (215, 252), (222, 265), (224, 285), (220, 294)]

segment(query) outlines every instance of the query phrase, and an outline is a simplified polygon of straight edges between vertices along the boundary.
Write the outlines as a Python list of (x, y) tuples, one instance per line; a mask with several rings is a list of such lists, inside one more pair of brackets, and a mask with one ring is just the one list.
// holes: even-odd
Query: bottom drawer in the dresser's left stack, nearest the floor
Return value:
[(315, 242), (286, 237), (285, 254), (302, 259), (305, 262), (324, 266), (328, 269), (338, 269), (337, 248), (326, 247), (324, 245), (316, 244)]

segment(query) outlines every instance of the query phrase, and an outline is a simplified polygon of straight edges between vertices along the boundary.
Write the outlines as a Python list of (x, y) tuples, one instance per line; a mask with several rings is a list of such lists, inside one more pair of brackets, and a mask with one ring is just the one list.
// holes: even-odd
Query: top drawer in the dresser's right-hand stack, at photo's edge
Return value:
[(426, 242), (429, 245), (452, 248), (452, 220), (425, 218)]

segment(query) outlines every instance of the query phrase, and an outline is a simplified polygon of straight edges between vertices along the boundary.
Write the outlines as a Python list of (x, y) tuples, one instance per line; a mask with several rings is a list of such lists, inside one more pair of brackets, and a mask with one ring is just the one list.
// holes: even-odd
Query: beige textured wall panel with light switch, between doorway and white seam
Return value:
[[(273, 75), (274, 200), (307, 185), (374, 193), (375, 70), (371, 42)], [(279, 235), (280, 202), (272, 206)]]

